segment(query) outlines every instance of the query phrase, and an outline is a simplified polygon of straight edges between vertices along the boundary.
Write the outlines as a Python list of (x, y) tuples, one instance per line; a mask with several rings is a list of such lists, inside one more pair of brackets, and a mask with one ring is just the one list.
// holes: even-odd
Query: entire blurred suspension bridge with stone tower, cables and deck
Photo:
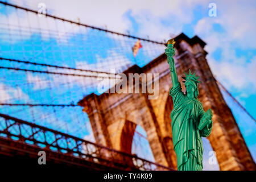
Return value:
[[(53, 166), (177, 169), (166, 41), (90, 26), (79, 19), (48, 13), (39, 16), (37, 10), (8, 2), (0, 2), (0, 6), (2, 163), (39, 165), (38, 152), (45, 151), (47, 165)], [(255, 170), (224, 96), (253, 122), (255, 119), (214, 78), (204, 40), (183, 33), (174, 39), (179, 77), (188, 69), (196, 71), (202, 81), (199, 100), (205, 110), (213, 110), (213, 129), (207, 140), (216, 152), (220, 170)], [(138, 40), (142, 48), (135, 57), (132, 47)], [(109, 68), (117, 72), (113, 74)], [(105, 92), (118, 83), (120, 73), (159, 73), (158, 98), (148, 99), (151, 93)], [(105, 90), (99, 92), (102, 80), (106, 81)], [(143, 84), (156, 86), (155, 81), (140, 78), (139, 86)], [(141, 145), (145, 141), (149, 146), (146, 152), (154, 161), (148, 155), (135, 154), (145, 148)]]

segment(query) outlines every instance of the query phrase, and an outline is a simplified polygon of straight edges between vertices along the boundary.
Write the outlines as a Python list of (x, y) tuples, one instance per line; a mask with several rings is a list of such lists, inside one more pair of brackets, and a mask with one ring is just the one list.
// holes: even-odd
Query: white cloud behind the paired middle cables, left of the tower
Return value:
[[(110, 73), (112, 70), (114, 73), (119, 73), (125, 71), (125, 69), (131, 66), (131, 61), (121, 54), (115, 52), (113, 49), (109, 49), (107, 52), (107, 57), (101, 57), (100, 55), (96, 55), (96, 62), (92, 64), (88, 64), (87, 61), (76, 61), (77, 69), (86, 69), (90, 71), (102, 71)], [(120, 62), (120, 60), (122, 60)], [(68, 67), (67, 65), (63, 65), (63, 67)], [(76, 74), (76, 75), (86, 75), (86, 76), (110, 76), (105, 73), (95, 73), (95, 72), (86, 72), (86, 71), (78, 71), (72, 69), (56, 69), (52, 67), (48, 67), (47, 71), (49, 72), (57, 72), (57, 73), (68, 73), (68, 74)], [(112, 75), (114, 76), (114, 75)], [(58, 86), (70, 86), (73, 85), (81, 86), (81, 89), (86, 88), (97, 88), (97, 85), (100, 81), (105, 78), (97, 78), (97, 77), (82, 77), (82, 76), (67, 76), (67, 75), (52, 75), (46, 78), (42, 76), (42, 74), (32, 75), (32, 73), (27, 74), (27, 82), (33, 84), (33, 89), (45, 89), (49, 86), (58, 87)], [(108, 78), (105, 79), (108, 81)], [(119, 79), (117, 78), (116, 82)]]

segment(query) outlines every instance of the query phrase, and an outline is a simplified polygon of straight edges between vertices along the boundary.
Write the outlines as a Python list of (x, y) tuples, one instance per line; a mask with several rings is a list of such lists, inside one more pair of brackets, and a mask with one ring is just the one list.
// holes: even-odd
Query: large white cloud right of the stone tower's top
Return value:
[[(205, 42), (205, 50), (209, 53), (207, 59), (213, 74), (228, 89), (252, 94), (256, 90), (255, 59), (246, 60), (245, 56), (238, 57), (236, 49), (256, 48), (252, 41), (255, 37), (254, 7), (250, 3), (240, 1), (230, 5), (226, 1), (217, 1), (217, 17), (200, 19), (194, 29)], [(238, 13), (239, 12), (239, 13)], [(243, 16), (241, 16), (243, 14)], [(218, 23), (223, 31), (215, 31), (213, 24)], [(213, 52), (221, 49), (220, 60), (213, 59)]]

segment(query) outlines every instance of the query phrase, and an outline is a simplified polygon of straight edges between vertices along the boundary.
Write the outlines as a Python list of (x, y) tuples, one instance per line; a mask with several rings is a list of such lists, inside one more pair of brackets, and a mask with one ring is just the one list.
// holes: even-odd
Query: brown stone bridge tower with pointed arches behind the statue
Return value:
[[(197, 36), (190, 39), (184, 34), (177, 36), (175, 42), (179, 81), (189, 68), (192, 72), (196, 71), (202, 81), (199, 84), (199, 100), (205, 110), (213, 110), (213, 129), (208, 139), (216, 152), (220, 169), (255, 170), (254, 160), (236, 120), (205, 59), (205, 43)], [(169, 96), (171, 72), (167, 56), (160, 55), (142, 68), (134, 65), (124, 73), (159, 73), (159, 97), (148, 100), (146, 93), (103, 93), (100, 96), (92, 93), (84, 97), (79, 105), (88, 114), (96, 143), (131, 153), (135, 128), (140, 125), (147, 133), (155, 162), (176, 168), (170, 118), (173, 107)], [(184, 85), (181, 85), (184, 90)]]

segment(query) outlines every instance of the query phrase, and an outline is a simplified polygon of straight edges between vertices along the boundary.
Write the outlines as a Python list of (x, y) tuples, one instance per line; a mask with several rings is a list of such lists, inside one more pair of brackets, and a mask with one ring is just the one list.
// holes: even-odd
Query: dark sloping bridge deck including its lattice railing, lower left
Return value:
[(42, 150), (46, 152), (47, 163), (51, 166), (96, 170), (172, 170), (135, 155), (0, 114), (1, 162), (6, 165), (39, 165), (38, 152)]

